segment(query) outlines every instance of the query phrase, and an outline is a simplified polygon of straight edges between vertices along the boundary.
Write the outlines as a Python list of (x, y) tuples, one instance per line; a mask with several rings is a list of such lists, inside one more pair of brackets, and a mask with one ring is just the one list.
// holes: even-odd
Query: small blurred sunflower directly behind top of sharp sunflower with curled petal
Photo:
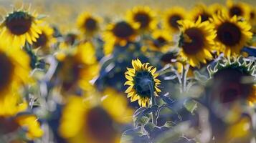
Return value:
[(192, 21), (198, 21), (199, 17), (201, 17), (201, 21), (208, 21), (212, 17), (211, 11), (204, 4), (197, 4), (194, 6), (190, 14), (190, 19)]

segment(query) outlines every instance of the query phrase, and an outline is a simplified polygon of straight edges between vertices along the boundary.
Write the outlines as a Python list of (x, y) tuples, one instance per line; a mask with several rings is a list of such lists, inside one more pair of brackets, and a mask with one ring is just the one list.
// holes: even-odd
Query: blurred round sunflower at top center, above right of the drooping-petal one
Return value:
[(138, 24), (141, 31), (156, 29), (156, 12), (148, 6), (133, 7), (131, 11), (127, 11), (126, 17), (129, 23)]

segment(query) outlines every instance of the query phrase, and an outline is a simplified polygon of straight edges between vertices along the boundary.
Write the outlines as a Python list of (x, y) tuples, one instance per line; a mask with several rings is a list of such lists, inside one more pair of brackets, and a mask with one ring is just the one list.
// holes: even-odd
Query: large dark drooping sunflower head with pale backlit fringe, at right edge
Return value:
[(255, 94), (255, 61), (240, 57), (222, 59), (214, 67), (208, 66), (212, 77), (210, 97), (222, 104), (247, 101), (253, 105)]

